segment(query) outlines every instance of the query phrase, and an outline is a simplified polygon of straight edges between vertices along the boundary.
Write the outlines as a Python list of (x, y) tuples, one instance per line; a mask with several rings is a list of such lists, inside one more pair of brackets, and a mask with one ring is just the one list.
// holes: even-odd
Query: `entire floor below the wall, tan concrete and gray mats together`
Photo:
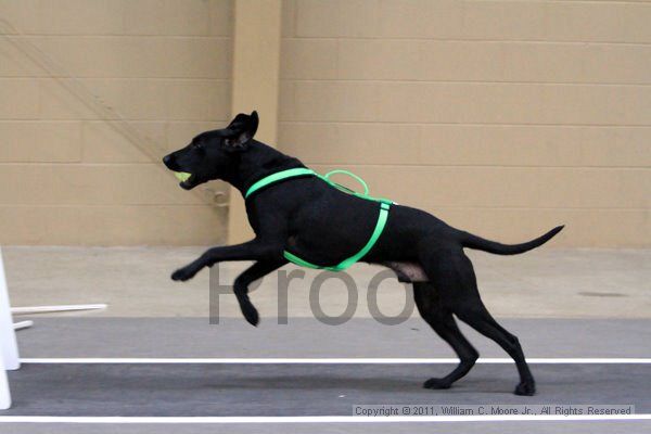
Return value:
[[(208, 324), (209, 272), (204, 271), (188, 283), (169, 280), (174, 269), (202, 252), (199, 247), (3, 247), (2, 252), (14, 306), (110, 304), (102, 312), (34, 317), (35, 327), (18, 333), (23, 357), (452, 356), (416, 315), (393, 327), (371, 318), (367, 288), (381, 271), (374, 267), (359, 265), (352, 269), (358, 303), (353, 318), (337, 327), (326, 326), (314, 318), (315, 304), (312, 301), (310, 305), (309, 294), (318, 276), (316, 271), (308, 270), (302, 280), (289, 285), (286, 324), (279, 324), (282, 322), (279, 311), (283, 310), (279, 309), (278, 302), (279, 276), (265, 279), (252, 293), (252, 301), (263, 318), (256, 329), (243, 321), (228, 291), (218, 298), (219, 324)], [(507, 329), (520, 336), (527, 357), (651, 357), (651, 250), (544, 248), (513, 257), (469, 254), (486, 305)], [(219, 281), (229, 283), (244, 267), (245, 264), (222, 265), (218, 269)], [(292, 269), (286, 267), (285, 271)], [(214, 294), (216, 278), (214, 270)], [(283, 299), (282, 291), (280, 293)], [(380, 286), (379, 308), (385, 315), (395, 315), (405, 306), (406, 297), (410, 297), (410, 291), (386, 280)], [(319, 306), (326, 315), (337, 315), (349, 307), (344, 284), (327, 280), (320, 291)], [(505, 357), (495, 344), (468, 328), (463, 330), (483, 357)], [(638, 412), (651, 412), (648, 366), (537, 365), (533, 369), (540, 393), (534, 399), (575, 404), (626, 400), (638, 406)], [(318, 409), (340, 414), (349, 404), (342, 407), (340, 395), (358, 397), (366, 404), (374, 399), (395, 403), (396, 397), (419, 404), (425, 398), (464, 404), (521, 399), (510, 393), (516, 379), (511, 365), (477, 366), (457, 388), (445, 391), (450, 392), (448, 394), (432, 394), (419, 387), (424, 378), (451, 368), (445, 365), (232, 365), (218, 368), (26, 365), (24, 370), (10, 375), (17, 399), (11, 413), (97, 414), (104, 411), (113, 414), (133, 410), (135, 414), (180, 416), (242, 413), (242, 409), (248, 408), (251, 411), (246, 414), (305, 414)], [(43, 392), (35, 398), (34, 390), (38, 387)], [(332, 393), (337, 397), (331, 399), (329, 394)], [(228, 408), (237, 411), (225, 412)], [(0, 423), (0, 433), (194, 433), (215, 429), (258, 433), (368, 432), (371, 429), (382, 433), (407, 430), (418, 433), (431, 432), (437, 426), (441, 425)], [(446, 427), (482, 433), (641, 433), (651, 431), (651, 423), (459, 422)]]

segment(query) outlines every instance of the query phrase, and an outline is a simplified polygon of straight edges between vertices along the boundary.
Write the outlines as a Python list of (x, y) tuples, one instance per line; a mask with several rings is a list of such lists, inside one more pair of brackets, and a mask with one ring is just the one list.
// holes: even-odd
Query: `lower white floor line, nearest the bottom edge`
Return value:
[(511, 416), (273, 416), (273, 417), (100, 417), (100, 416), (0, 416), (0, 423), (396, 423), (396, 422), (542, 422), (639, 421), (651, 414), (511, 414)]

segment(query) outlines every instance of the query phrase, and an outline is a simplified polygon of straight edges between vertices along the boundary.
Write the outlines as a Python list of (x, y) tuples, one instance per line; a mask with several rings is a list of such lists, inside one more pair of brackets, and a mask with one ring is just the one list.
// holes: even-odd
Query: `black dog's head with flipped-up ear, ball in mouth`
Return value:
[(180, 183), (186, 190), (214, 179), (227, 179), (237, 170), (239, 153), (250, 146), (257, 127), (257, 112), (240, 113), (228, 127), (202, 132), (186, 148), (166, 155), (163, 163), (170, 170), (190, 174)]

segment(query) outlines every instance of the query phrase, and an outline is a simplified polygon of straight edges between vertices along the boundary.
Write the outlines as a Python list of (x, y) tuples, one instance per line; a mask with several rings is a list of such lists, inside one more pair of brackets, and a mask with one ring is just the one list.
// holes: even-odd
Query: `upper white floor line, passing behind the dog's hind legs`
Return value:
[[(527, 358), (529, 363), (651, 363), (651, 358)], [(23, 363), (205, 363), (205, 365), (417, 365), (458, 363), (456, 358), (23, 358)], [(510, 358), (480, 358), (477, 363), (513, 363)]]

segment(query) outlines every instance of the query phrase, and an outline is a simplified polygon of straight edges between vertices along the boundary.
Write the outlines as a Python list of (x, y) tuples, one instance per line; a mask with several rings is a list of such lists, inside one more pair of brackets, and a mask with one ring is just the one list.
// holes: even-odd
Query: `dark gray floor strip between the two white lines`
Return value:
[(635, 405), (651, 412), (651, 365), (477, 365), (456, 387), (421, 383), (452, 365), (25, 365), (10, 373), (22, 416), (353, 416), (353, 405)]

